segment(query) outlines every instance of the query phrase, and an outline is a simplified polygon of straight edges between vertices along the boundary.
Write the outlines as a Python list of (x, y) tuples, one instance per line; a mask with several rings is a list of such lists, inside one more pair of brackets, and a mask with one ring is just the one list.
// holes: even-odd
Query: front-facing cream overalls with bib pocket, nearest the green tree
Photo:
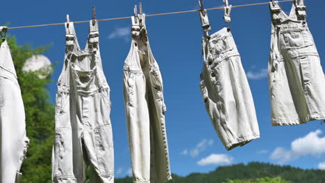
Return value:
[(98, 22), (90, 21), (85, 50), (80, 50), (74, 24), (66, 26), (66, 53), (56, 94), (56, 138), (53, 182), (114, 182), (110, 88), (101, 67)]

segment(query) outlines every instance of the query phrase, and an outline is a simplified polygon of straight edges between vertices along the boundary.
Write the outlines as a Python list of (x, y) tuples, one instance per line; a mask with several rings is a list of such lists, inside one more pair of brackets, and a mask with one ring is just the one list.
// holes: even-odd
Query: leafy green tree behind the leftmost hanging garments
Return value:
[[(1, 42), (1, 41), (0, 41)], [(17, 45), (16, 38), (7, 42), (15, 64), (26, 112), (26, 132), (31, 139), (27, 157), (22, 165), (22, 183), (51, 182), (51, 152), (54, 134), (55, 105), (49, 102), (50, 76), (39, 78), (38, 72), (24, 72), (24, 63), (32, 55), (44, 53), (49, 46), (33, 48), (31, 44)], [(52, 67), (52, 66), (51, 66)]]

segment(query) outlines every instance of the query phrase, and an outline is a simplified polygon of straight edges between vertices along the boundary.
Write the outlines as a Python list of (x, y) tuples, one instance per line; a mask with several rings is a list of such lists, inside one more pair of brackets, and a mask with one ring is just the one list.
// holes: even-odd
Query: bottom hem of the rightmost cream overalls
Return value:
[(302, 119), (274, 119), (272, 120), (272, 126), (282, 126), (282, 125), (301, 125), (308, 121), (315, 120), (325, 120), (325, 113), (317, 115), (308, 115)]

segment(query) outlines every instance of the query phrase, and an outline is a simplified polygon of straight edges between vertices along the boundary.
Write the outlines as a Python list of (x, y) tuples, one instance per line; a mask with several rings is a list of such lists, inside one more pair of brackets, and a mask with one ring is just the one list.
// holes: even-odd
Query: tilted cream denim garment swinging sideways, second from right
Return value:
[(203, 37), (201, 93), (210, 119), (227, 150), (260, 137), (255, 106), (230, 30)]

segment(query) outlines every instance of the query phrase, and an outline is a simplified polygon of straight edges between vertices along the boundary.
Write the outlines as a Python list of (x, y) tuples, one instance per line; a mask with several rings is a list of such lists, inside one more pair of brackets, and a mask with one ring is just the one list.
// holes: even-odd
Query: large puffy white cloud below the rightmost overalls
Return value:
[(291, 150), (278, 147), (273, 151), (270, 158), (277, 160), (279, 164), (283, 164), (303, 155), (322, 155), (325, 153), (325, 137), (319, 137), (320, 134), (322, 134), (322, 131), (316, 130), (305, 137), (295, 139), (291, 143)]

